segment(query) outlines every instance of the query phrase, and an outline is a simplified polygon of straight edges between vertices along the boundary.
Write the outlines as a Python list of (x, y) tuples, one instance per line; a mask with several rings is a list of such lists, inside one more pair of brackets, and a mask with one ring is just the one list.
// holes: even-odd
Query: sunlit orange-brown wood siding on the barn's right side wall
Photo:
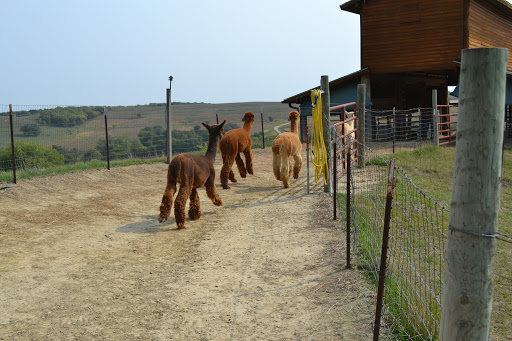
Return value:
[(470, 1), (466, 46), (508, 48), (507, 70), (512, 71), (512, 15), (499, 11), (486, 1)]

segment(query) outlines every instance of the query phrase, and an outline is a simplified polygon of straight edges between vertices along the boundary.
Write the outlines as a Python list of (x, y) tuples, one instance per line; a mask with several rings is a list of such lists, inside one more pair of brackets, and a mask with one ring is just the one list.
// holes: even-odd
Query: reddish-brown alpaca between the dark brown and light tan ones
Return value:
[[(242, 128), (226, 132), (220, 140), (220, 154), (223, 162), (220, 171), (220, 183), (224, 189), (229, 189), (228, 178), (231, 182), (236, 182), (232, 170), (235, 161), (242, 178), (245, 178), (247, 173), (254, 174), (251, 151), (251, 127), (254, 123), (254, 114), (250, 111), (246, 112), (242, 121), (244, 121)], [(245, 166), (240, 153), (245, 155)]]

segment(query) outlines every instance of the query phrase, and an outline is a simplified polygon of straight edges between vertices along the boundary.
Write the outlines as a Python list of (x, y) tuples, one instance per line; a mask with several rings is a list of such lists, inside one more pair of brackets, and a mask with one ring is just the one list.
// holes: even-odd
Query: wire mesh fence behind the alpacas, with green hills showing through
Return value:
[[(278, 134), (273, 127), (287, 117), (288, 110), (283, 105), (173, 105), (173, 155), (206, 150), (208, 132), (201, 122), (214, 124), (226, 120), (224, 131), (228, 131), (243, 126), (245, 111), (256, 115), (251, 129), (253, 148), (264, 148), (271, 145)], [(285, 124), (283, 131), (286, 129)], [(14, 165), (18, 170), (42, 169), (107, 161), (107, 155), (110, 161), (158, 158), (166, 154), (165, 104), (130, 107), (14, 105), (12, 118), (9, 105), (0, 105), (0, 172), (10, 172)]]

